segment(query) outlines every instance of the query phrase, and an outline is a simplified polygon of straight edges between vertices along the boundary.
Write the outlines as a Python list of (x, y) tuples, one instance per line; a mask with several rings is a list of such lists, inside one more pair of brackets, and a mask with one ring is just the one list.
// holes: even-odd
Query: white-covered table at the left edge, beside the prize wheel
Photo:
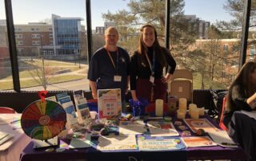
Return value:
[(30, 143), (30, 138), (22, 131), (22, 128), (10, 122), (19, 120), (21, 114), (0, 114), (0, 131), (13, 135), (8, 141), (0, 145), (1, 161), (16, 161), (22, 150)]

